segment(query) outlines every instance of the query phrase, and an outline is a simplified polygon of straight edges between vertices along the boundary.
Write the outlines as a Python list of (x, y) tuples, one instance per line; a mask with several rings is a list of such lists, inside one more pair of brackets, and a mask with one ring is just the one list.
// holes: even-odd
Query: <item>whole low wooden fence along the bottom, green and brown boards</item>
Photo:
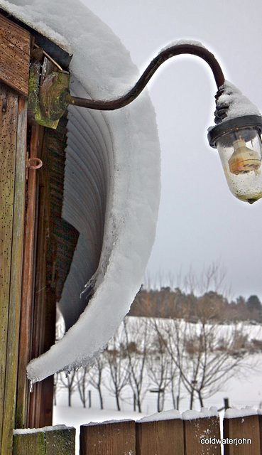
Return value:
[[(200, 416), (202, 414), (200, 413)], [(221, 455), (219, 417), (111, 421), (80, 427), (80, 455)], [(262, 415), (224, 419), (224, 455), (262, 455)], [(15, 430), (13, 455), (75, 455), (75, 429)]]

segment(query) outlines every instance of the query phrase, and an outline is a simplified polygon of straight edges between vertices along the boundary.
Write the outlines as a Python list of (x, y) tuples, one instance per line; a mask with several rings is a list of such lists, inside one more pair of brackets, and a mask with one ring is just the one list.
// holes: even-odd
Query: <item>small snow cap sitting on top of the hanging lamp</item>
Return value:
[(223, 90), (223, 93), (217, 100), (217, 109), (229, 106), (222, 122), (243, 115), (261, 115), (258, 107), (253, 105), (249, 98), (242, 95), (241, 91), (231, 82), (226, 80), (219, 90)]

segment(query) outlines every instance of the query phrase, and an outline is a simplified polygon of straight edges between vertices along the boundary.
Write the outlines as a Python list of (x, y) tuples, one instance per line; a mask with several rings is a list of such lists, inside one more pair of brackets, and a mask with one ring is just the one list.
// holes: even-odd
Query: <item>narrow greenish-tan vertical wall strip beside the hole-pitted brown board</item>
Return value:
[(23, 264), (23, 228), (26, 196), (26, 101), (18, 100), (16, 172), (13, 204), (13, 237), (11, 252), (11, 287), (9, 296), (9, 326), (7, 334), (6, 381), (4, 392), (3, 446), (13, 439), (16, 408), (16, 377), (18, 370), (18, 341), (20, 325), (21, 277)]

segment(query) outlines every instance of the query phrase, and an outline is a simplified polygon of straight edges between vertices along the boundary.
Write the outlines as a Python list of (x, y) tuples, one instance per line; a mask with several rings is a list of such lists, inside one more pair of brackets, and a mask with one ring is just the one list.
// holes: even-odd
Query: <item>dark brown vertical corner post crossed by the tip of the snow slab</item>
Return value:
[[(53, 70), (44, 60), (43, 72)], [(29, 100), (28, 100), (29, 105)], [(41, 127), (41, 138), (38, 141), (36, 155), (43, 161), (43, 167), (37, 171), (38, 176), (38, 235), (35, 259), (35, 296), (33, 312), (32, 352), (31, 357), (47, 351), (55, 343), (56, 287), (54, 286), (55, 245), (53, 240), (52, 197), (50, 196), (50, 140), (48, 131)], [(40, 127), (38, 126), (40, 130)], [(65, 129), (64, 129), (65, 134)], [(61, 196), (62, 197), (62, 196)], [(49, 258), (51, 256), (51, 259)], [(49, 272), (48, 261), (51, 261)], [(53, 416), (53, 376), (38, 382), (33, 387), (29, 405), (29, 427), (45, 427), (52, 424)]]

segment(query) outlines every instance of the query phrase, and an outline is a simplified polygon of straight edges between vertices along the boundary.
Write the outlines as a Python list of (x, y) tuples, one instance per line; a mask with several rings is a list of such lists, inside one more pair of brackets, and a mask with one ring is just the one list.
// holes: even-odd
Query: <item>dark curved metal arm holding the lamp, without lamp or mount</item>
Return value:
[(148, 65), (148, 68), (143, 72), (139, 78), (136, 85), (123, 95), (122, 97), (117, 98), (116, 100), (109, 101), (99, 101), (99, 100), (86, 100), (84, 98), (72, 97), (69, 93), (65, 95), (65, 102), (69, 105), (75, 105), (80, 107), (87, 107), (89, 109), (99, 109), (99, 110), (114, 110), (120, 109), (126, 105), (129, 105), (133, 100), (140, 95), (142, 90), (146, 87), (148, 81), (151, 79), (155, 71), (171, 57), (181, 54), (191, 54), (197, 55), (197, 57), (202, 58), (206, 61), (209, 67), (212, 69), (214, 79), (217, 83), (217, 88), (221, 87), (224, 84), (224, 74), (222, 69), (214, 57), (214, 55), (209, 52), (201, 44), (195, 43), (178, 43), (171, 45), (169, 48), (162, 50)]

